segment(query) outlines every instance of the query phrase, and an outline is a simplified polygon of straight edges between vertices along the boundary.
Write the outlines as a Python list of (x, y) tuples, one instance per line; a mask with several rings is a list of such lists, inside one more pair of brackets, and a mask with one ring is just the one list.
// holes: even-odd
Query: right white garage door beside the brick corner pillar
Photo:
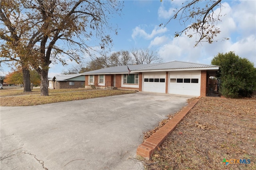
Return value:
[(200, 96), (201, 72), (169, 72), (169, 93)]

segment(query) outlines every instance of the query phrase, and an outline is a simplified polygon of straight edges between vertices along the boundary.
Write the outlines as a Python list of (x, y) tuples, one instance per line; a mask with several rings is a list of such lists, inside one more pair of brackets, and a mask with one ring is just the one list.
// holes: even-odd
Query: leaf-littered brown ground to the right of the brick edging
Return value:
[[(240, 159), (250, 164), (232, 164)], [(203, 97), (144, 162), (147, 170), (256, 170), (256, 99)]]

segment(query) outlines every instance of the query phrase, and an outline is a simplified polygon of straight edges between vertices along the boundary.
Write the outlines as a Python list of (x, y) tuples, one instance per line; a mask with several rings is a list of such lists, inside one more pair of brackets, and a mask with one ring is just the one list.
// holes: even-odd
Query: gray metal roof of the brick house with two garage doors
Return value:
[[(140, 64), (140, 65), (128, 65), (131, 72), (138, 71), (150, 71), (150, 70), (172, 70), (172, 69), (216, 69), (217, 65), (207, 65), (207, 64), (199, 64), (199, 63), (190, 63), (183, 61), (171, 61), (168, 63), (153, 63), (153, 64)], [(218, 68), (217, 68), (218, 69)], [(88, 71), (81, 73), (83, 75), (90, 74), (112, 74), (112, 73), (128, 73), (127, 65), (116, 66), (116, 67), (108, 67), (104, 69), (98, 69), (94, 71)]]

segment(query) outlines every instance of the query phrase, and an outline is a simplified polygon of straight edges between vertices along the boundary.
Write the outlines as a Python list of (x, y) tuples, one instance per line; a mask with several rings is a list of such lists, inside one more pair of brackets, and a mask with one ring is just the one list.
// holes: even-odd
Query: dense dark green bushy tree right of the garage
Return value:
[(248, 96), (256, 91), (256, 68), (246, 58), (234, 52), (218, 53), (212, 65), (219, 65), (218, 79), (221, 80), (220, 93), (226, 97)]

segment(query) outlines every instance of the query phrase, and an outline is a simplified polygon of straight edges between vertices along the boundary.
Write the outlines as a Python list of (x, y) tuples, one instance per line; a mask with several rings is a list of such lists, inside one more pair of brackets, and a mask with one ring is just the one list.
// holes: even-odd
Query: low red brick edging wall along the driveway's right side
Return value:
[(164, 142), (168, 135), (174, 130), (178, 123), (180, 123), (180, 121), (190, 111), (190, 109), (192, 109), (194, 105), (196, 105), (200, 98), (201, 96), (198, 97), (198, 99), (192, 101), (192, 103), (182, 109), (182, 111), (175, 115), (168, 123), (166, 123), (158, 131), (156, 131), (149, 138), (147, 138), (142, 144), (140, 144), (137, 148), (136, 154), (144, 158), (150, 159), (156, 148), (160, 146), (162, 142)]

